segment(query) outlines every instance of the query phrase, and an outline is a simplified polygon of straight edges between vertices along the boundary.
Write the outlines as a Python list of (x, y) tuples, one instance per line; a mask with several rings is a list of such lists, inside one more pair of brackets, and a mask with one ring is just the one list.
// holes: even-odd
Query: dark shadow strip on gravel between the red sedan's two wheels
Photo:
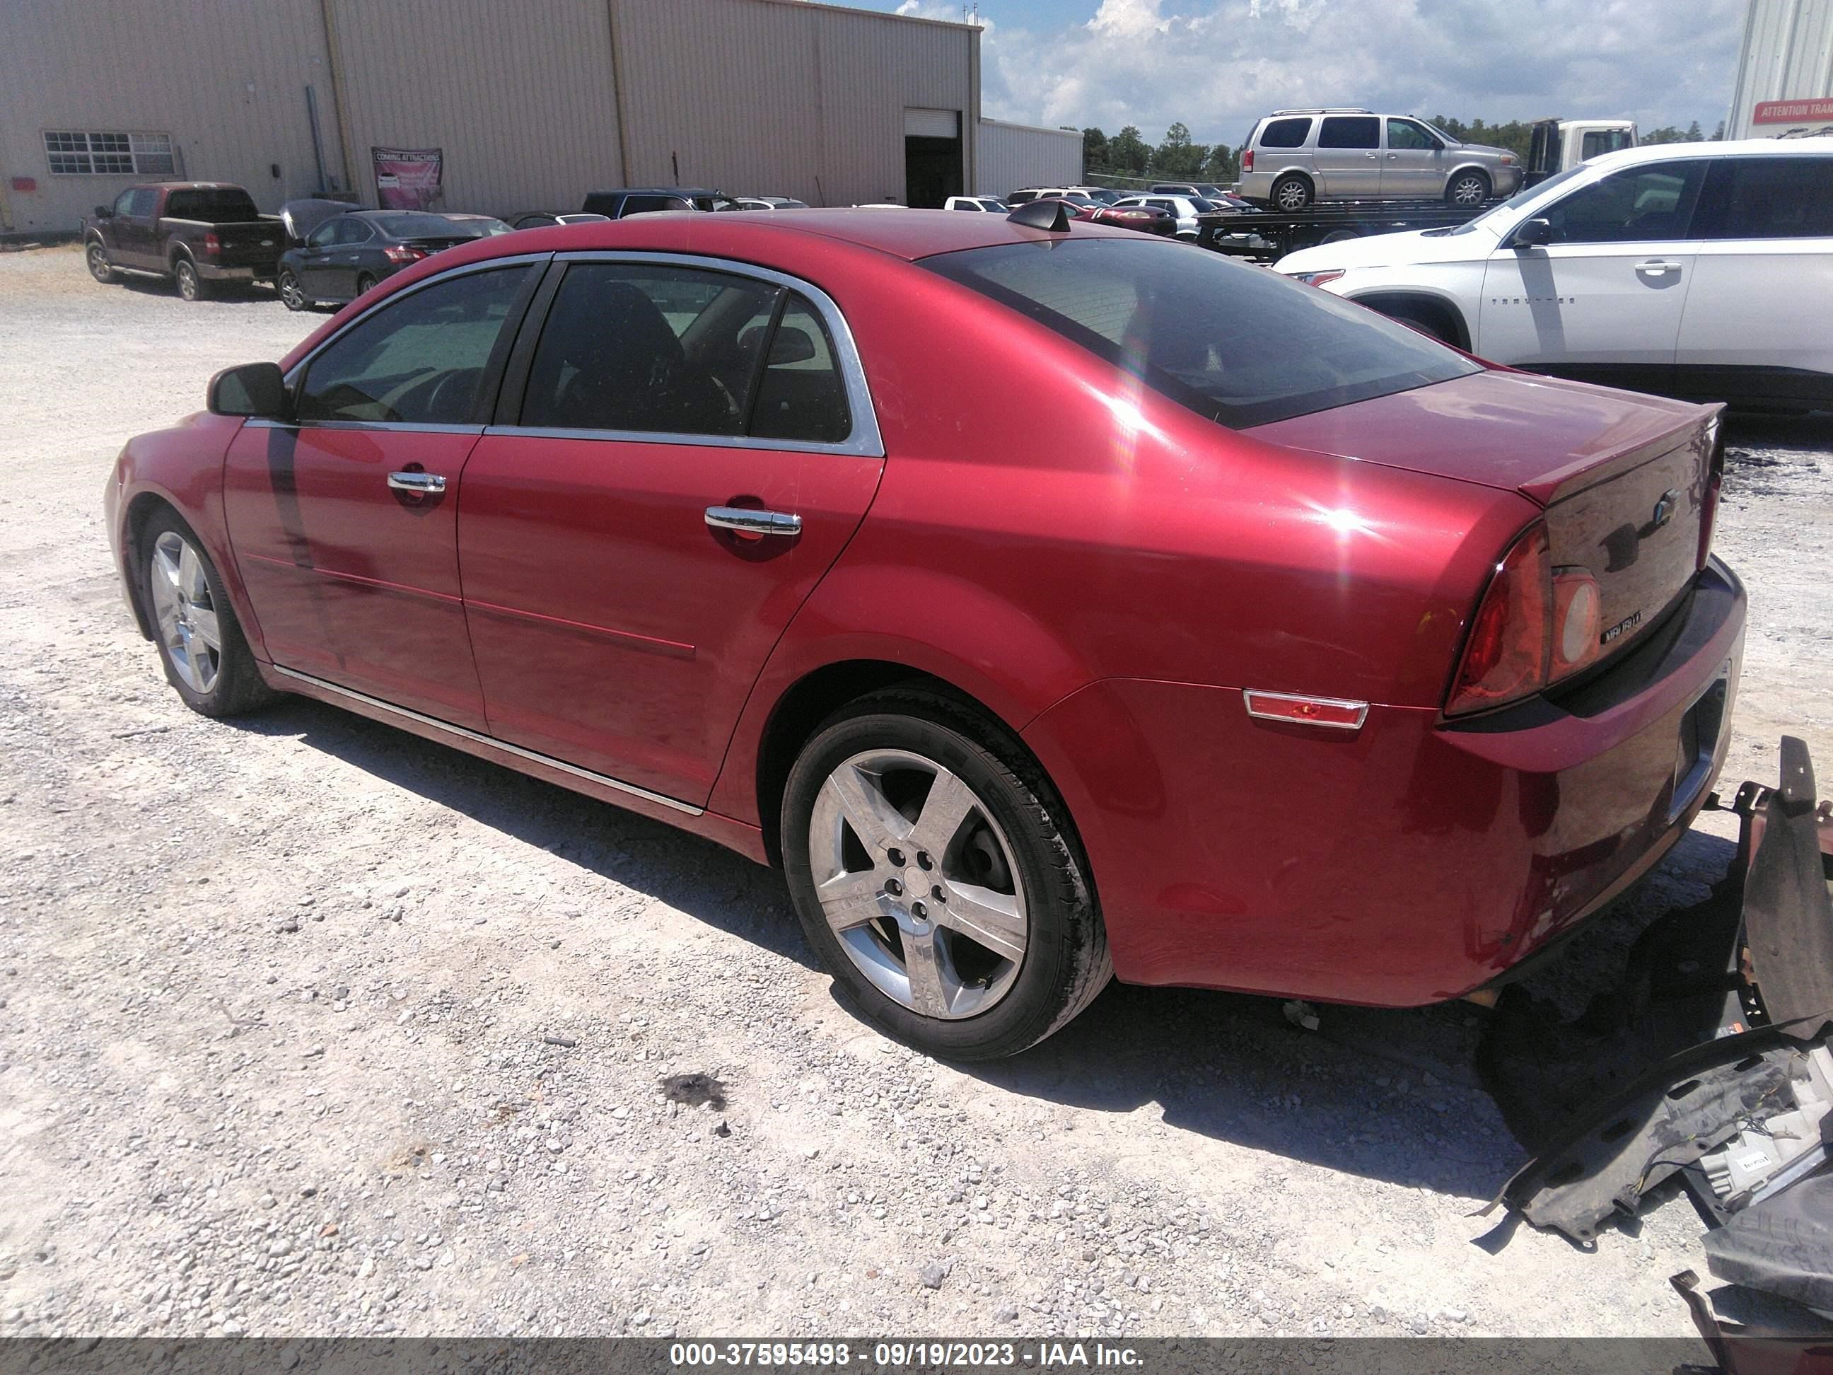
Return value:
[(554, 783), (291, 697), (231, 724), (291, 737), (676, 911), (814, 968), (783, 880), (711, 840)]

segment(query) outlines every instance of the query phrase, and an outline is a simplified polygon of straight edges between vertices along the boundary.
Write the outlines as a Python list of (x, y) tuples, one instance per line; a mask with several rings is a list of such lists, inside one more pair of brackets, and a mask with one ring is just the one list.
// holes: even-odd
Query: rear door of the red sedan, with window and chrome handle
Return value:
[(865, 378), (805, 282), (645, 255), (555, 271), (466, 468), (489, 728), (702, 805), (770, 647), (878, 488)]

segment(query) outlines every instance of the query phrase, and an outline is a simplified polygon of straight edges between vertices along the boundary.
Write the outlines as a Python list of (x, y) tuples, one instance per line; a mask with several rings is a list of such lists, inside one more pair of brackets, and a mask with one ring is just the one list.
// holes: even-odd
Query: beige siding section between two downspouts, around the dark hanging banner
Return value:
[(444, 148), (447, 211), (576, 211), (623, 183), (605, 0), (326, 6), (367, 204), (370, 147)]

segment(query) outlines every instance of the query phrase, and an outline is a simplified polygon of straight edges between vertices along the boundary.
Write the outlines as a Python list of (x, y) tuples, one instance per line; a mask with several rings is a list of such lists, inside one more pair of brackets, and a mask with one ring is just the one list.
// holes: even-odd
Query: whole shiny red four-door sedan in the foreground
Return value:
[(783, 867), (858, 1012), (1479, 990), (1679, 838), (1718, 411), (990, 214), (455, 248), (108, 484), (178, 695), (302, 693)]

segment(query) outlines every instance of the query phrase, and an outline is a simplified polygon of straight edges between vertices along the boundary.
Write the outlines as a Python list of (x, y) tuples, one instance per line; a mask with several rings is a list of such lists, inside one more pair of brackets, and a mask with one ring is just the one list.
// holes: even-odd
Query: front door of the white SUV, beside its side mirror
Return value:
[(1485, 264), (1476, 352), (1589, 381), (1668, 387), (1705, 170), (1705, 158), (1686, 158), (1587, 182), (1536, 216), (1553, 229), (1545, 246), (1521, 246), (1516, 226)]

